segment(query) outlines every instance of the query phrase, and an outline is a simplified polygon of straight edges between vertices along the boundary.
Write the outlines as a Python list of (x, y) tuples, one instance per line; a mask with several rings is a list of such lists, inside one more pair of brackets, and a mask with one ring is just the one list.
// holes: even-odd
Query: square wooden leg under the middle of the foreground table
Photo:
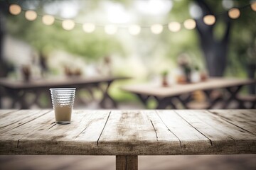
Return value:
[(137, 155), (117, 155), (116, 169), (117, 170), (137, 170), (138, 156)]

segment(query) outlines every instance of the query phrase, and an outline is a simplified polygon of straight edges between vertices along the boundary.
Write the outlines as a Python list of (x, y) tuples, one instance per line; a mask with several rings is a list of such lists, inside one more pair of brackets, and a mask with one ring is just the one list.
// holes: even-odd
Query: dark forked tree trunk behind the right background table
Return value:
[[(208, 4), (203, 0), (195, 0), (203, 11), (203, 16), (213, 14)], [(216, 18), (217, 21), (217, 18)], [(198, 30), (201, 40), (201, 48), (206, 59), (206, 67), (210, 77), (222, 77), (227, 65), (228, 39), (230, 35), (230, 19), (225, 17), (226, 30), (221, 40), (217, 40), (213, 34), (212, 26), (203, 23), (203, 17), (196, 20), (196, 30)]]

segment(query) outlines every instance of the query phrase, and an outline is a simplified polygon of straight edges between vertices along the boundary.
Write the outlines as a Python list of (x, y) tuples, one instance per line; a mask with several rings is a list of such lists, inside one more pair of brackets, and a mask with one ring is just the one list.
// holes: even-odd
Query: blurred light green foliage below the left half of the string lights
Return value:
[(63, 30), (60, 21), (55, 21), (53, 26), (45, 26), (41, 18), (27, 21), (22, 14), (10, 16), (7, 28), (11, 35), (25, 40), (38, 51), (62, 49), (86, 60), (98, 60), (112, 53), (126, 55), (121, 42), (114, 36), (106, 35), (103, 30), (88, 34), (83, 32), (81, 26), (76, 26), (68, 31)]

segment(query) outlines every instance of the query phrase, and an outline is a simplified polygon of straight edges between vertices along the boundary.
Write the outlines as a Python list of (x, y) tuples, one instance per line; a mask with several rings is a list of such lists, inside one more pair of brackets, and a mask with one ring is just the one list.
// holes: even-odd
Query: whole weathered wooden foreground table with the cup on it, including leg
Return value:
[(137, 169), (138, 155), (256, 154), (256, 110), (0, 110), (0, 154), (117, 155)]

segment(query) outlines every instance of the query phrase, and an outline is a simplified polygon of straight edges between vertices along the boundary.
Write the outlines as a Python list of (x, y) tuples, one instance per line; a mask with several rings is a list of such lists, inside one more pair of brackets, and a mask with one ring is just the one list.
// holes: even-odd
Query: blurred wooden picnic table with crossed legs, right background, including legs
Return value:
[[(248, 84), (256, 84), (256, 80), (252, 79), (228, 79), (228, 78), (210, 78), (207, 81), (201, 81), (194, 84), (175, 84), (168, 87), (163, 87), (156, 84), (139, 84), (123, 86), (122, 90), (136, 94), (139, 99), (147, 106), (149, 98), (153, 97), (157, 102), (157, 109), (177, 108), (173, 100), (176, 98), (182, 104), (183, 108), (188, 108), (187, 103), (191, 99), (193, 91), (203, 91), (208, 97), (210, 108), (213, 108), (218, 101), (218, 98), (212, 100), (210, 93), (216, 89), (224, 89), (227, 97), (223, 102), (223, 108), (228, 108), (231, 101), (238, 101), (238, 92), (242, 86)], [(256, 88), (256, 87), (255, 87)], [(181, 95), (188, 94), (188, 97), (181, 98)]]

